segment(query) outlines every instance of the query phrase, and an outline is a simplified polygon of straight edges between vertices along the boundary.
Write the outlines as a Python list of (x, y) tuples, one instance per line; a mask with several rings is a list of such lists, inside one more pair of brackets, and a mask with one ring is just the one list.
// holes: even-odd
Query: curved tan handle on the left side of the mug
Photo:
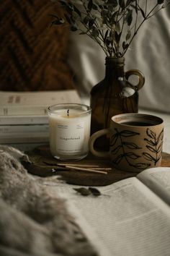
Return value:
[(89, 140), (89, 150), (93, 155), (102, 157), (102, 158), (107, 158), (109, 156), (109, 151), (97, 151), (94, 149), (94, 142), (97, 140), (98, 137), (101, 137), (103, 135), (107, 135), (109, 132), (109, 128), (107, 129), (101, 129), (98, 132), (94, 132), (93, 135), (91, 135), (90, 140)]

